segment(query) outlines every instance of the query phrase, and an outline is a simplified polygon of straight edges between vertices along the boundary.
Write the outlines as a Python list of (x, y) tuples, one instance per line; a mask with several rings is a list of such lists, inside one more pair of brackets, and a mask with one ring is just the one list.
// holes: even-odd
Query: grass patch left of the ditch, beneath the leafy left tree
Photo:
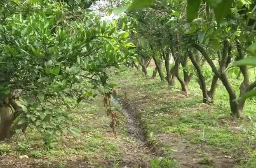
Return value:
[[(14, 136), (13, 143), (0, 144), (0, 154), (12, 152), (14, 156), (27, 155), (29, 158), (55, 161), (58, 163), (57, 167), (65, 168), (68, 167), (66, 160), (75, 158), (86, 162), (85, 164), (89, 162), (91, 165), (97, 165), (98, 168), (105, 167), (105, 162), (114, 164), (115, 159), (122, 160), (123, 157), (127, 157), (125, 153), (129, 150), (133, 152), (133, 149), (127, 149), (127, 146), (136, 145), (136, 141), (127, 136), (125, 118), (118, 113), (120, 125), (117, 130), (118, 137), (115, 139), (109, 127), (110, 117), (106, 115), (100, 96), (80, 104), (71, 99), (67, 99), (66, 102), (72, 106), (72, 126), (80, 129), (80, 137), (67, 134), (63, 135), (61, 140), (61, 135), (57, 134), (58, 145), (52, 150), (43, 150), (44, 141), (40, 138), (40, 131), (36, 127), (31, 127), (26, 134)], [(120, 104), (115, 105), (114, 109), (120, 111)]]

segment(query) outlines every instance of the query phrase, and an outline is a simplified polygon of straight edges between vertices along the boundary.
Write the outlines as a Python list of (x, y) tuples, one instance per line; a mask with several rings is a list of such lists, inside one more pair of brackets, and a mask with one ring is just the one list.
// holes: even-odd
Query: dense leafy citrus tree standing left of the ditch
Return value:
[(72, 9), (54, 0), (0, 2), (0, 140), (33, 124), (56, 145), (56, 132), (79, 133), (63, 124), (72, 116), (58, 104), (100, 88), (111, 94), (108, 69), (126, 62), (127, 32), (92, 10)]

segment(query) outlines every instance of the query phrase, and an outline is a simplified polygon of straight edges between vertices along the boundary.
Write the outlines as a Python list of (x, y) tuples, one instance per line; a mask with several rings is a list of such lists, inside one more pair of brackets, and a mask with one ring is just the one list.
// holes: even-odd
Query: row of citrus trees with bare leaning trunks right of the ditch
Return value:
[[(256, 81), (251, 81), (248, 65), (255, 66), (254, 44), (254, 1), (251, 0), (167, 0), (135, 1), (125, 7), (115, 9), (116, 13), (127, 12), (127, 17), (136, 20), (137, 38), (146, 39), (148, 48), (153, 50), (155, 62), (161, 80), (164, 79), (161, 60), (165, 61), (169, 85), (176, 77), (182, 91), (188, 93), (188, 85), (194, 72), (202, 90), (203, 102), (212, 103), (214, 92), (221, 81), (230, 97), (232, 115), (242, 116), (245, 99), (254, 95)], [(149, 6), (134, 11), (134, 6)], [(138, 26), (139, 25), (139, 26)], [(139, 48), (139, 46), (137, 46)], [(175, 64), (169, 65), (170, 55)], [(157, 60), (157, 57), (159, 58)], [(190, 62), (188, 62), (190, 58)], [(141, 62), (140, 59), (138, 59)], [(239, 60), (233, 64), (234, 60)], [(144, 61), (145, 62), (145, 61)], [(208, 63), (214, 76), (211, 87), (207, 89), (205, 74), (201, 67)], [(182, 65), (183, 78), (179, 74)], [(193, 64), (193, 67), (190, 66)], [(238, 66), (233, 67), (234, 65)], [(145, 71), (145, 70), (143, 70)], [(242, 74), (244, 81), (237, 91), (228, 79), (230, 71)], [(239, 98), (240, 97), (240, 98)]]

